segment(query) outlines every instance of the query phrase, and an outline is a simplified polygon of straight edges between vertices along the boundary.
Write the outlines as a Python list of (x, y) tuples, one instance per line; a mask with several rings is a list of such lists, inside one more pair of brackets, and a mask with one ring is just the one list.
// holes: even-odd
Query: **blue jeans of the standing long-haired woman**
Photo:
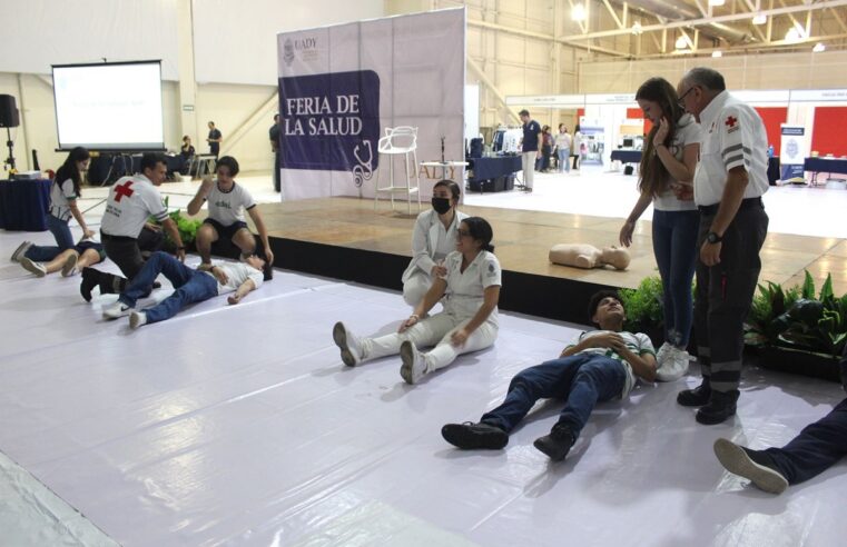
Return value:
[(664, 340), (688, 346), (693, 321), (691, 280), (697, 266), (698, 211), (653, 211), (653, 253), (662, 278)]

